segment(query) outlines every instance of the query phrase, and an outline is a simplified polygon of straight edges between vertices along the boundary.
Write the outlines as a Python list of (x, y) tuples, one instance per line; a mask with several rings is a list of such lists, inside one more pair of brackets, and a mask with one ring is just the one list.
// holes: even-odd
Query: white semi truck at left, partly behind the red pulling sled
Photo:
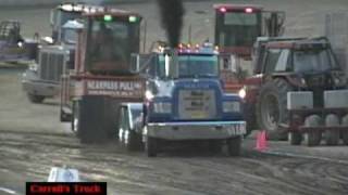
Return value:
[(63, 3), (51, 12), (52, 36), (42, 38), (36, 62), (23, 74), (22, 86), (33, 103), (58, 96), (61, 75), (74, 69), (77, 31), (84, 28), (79, 20), (86, 4)]

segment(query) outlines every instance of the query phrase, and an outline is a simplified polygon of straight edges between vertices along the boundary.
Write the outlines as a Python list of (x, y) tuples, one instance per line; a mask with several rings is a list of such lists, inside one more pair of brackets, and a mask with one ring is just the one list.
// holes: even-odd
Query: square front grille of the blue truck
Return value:
[(178, 92), (179, 119), (209, 119), (216, 117), (214, 90), (181, 90)]

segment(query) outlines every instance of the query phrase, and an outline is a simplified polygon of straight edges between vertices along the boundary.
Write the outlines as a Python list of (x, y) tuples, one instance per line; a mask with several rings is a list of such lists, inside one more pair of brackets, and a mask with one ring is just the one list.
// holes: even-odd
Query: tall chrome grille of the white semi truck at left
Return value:
[(60, 81), (63, 73), (64, 54), (63, 53), (40, 53), (40, 78), (42, 80)]

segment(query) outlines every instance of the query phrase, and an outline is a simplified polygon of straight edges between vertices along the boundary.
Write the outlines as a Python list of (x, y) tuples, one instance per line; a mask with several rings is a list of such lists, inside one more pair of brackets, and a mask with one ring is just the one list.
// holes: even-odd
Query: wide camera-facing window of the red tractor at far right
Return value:
[(339, 69), (331, 50), (307, 50), (294, 52), (294, 69), (297, 73)]

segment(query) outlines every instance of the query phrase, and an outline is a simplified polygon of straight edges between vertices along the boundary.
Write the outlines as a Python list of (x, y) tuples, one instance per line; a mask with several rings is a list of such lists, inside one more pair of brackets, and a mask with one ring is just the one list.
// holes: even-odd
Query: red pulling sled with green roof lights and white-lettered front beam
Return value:
[(145, 80), (130, 65), (132, 53), (139, 52), (141, 16), (91, 8), (83, 20), (75, 69), (62, 76), (61, 118), (90, 143), (116, 138), (122, 103), (142, 102)]

